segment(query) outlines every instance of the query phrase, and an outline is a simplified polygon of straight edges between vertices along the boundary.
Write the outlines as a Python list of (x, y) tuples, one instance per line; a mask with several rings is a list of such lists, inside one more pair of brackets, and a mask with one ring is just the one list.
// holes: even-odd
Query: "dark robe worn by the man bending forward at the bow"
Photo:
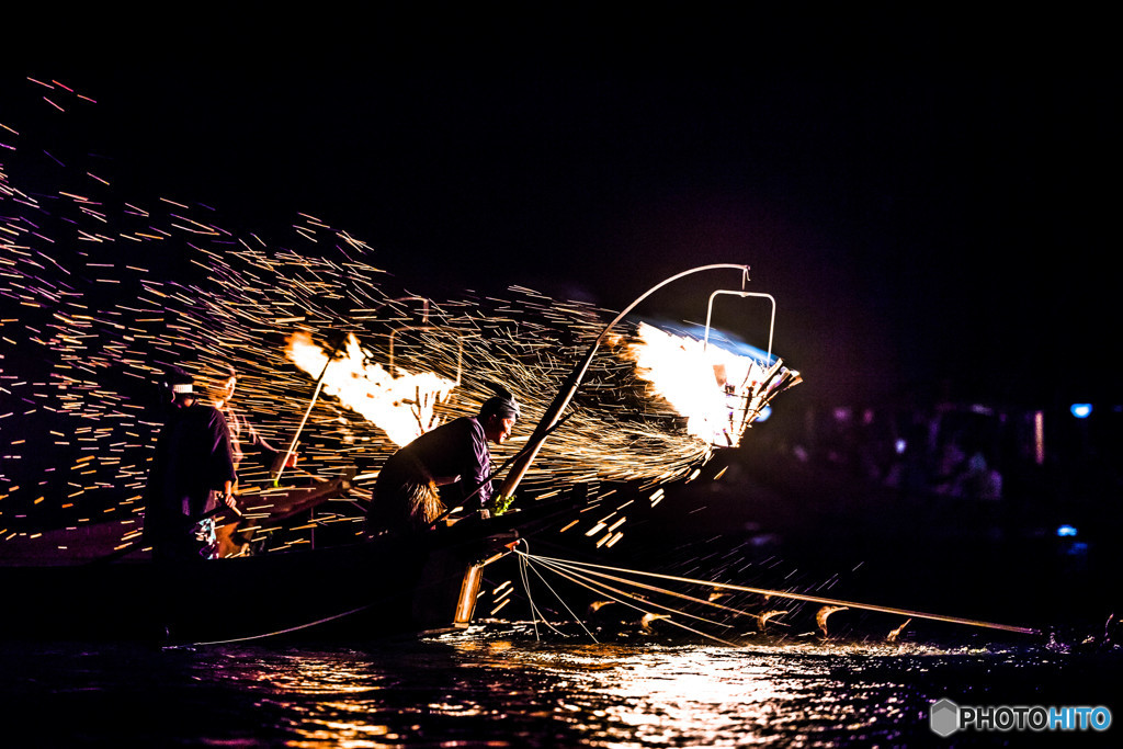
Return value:
[[(439, 491), (440, 500), (448, 508), (465, 501), (469, 509), (484, 506), (492, 496), (490, 475), (491, 450), (480, 419), (462, 417), (441, 424), (386, 460), (374, 487), (372, 526), (401, 528), (409, 515), (405, 505), (418, 500), (419, 493), (424, 494), (426, 487), (430, 493)], [(416, 530), (424, 524), (414, 519)]]

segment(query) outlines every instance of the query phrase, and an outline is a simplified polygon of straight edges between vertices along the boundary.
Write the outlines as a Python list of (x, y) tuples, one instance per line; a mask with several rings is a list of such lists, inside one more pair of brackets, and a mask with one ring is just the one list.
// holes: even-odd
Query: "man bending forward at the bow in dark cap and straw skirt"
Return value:
[(367, 513), (372, 532), (424, 531), (447, 506), (487, 512), (493, 494), (487, 442), (505, 442), (519, 419), (514, 396), (495, 390), (477, 415), (441, 424), (390, 456)]

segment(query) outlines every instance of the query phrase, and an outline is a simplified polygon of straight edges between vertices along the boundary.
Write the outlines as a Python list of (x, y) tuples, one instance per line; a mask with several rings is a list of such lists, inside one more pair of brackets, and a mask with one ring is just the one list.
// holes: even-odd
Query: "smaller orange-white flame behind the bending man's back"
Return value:
[(348, 334), (343, 356), (327, 369), (328, 353), (305, 332), (289, 337), (285, 354), (312, 377), (323, 373), (326, 394), (374, 422), (399, 447), (439, 426), (433, 409), (457, 385), (432, 372), (411, 374), (396, 366), (390, 372), (368, 359), (354, 334)]

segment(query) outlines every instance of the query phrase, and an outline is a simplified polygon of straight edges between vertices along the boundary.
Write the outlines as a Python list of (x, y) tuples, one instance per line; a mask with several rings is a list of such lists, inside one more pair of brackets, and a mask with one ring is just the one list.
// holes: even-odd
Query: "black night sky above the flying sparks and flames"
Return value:
[[(417, 293), (620, 309), (747, 263), (809, 395), (1114, 396), (1120, 90), (1095, 19), (201, 20), (75, 34), (6, 88), (98, 99), (83, 137), (125, 199), (265, 236), (310, 213)], [(701, 319), (722, 282), (648, 311)]]

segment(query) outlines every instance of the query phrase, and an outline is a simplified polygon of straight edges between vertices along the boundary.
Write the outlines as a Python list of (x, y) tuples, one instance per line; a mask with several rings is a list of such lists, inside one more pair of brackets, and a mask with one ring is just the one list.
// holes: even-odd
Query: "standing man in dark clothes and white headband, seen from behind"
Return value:
[(172, 409), (156, 442), (145, 490), (144, 539), (156, 559), (213, 559), (219, 503), (237, 511), (230, 432), (222, 413), (195, 398), (175, 369)]

